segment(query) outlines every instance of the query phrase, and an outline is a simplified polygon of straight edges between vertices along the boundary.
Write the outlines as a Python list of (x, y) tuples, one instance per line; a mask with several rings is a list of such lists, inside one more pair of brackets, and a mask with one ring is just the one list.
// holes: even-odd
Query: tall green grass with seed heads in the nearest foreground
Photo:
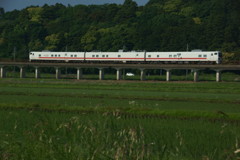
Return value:
[(234, 159), (230, 123), (0, 111), (1, 159)]

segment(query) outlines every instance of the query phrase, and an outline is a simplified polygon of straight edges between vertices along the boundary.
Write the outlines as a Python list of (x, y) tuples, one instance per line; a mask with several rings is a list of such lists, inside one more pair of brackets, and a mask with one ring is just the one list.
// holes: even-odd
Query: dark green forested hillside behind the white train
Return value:
[(150, 0), (124, 4), (0, 8), (0, 58), (29, 51), (221, 50), (240, 57), (239, 0)]

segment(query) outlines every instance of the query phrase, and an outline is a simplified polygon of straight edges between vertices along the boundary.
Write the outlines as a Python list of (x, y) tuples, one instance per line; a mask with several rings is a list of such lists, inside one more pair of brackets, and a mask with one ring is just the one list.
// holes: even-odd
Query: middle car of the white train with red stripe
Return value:
[(86, 61), (139, 62), (145, 61), (145, 52), (86, 52)]

